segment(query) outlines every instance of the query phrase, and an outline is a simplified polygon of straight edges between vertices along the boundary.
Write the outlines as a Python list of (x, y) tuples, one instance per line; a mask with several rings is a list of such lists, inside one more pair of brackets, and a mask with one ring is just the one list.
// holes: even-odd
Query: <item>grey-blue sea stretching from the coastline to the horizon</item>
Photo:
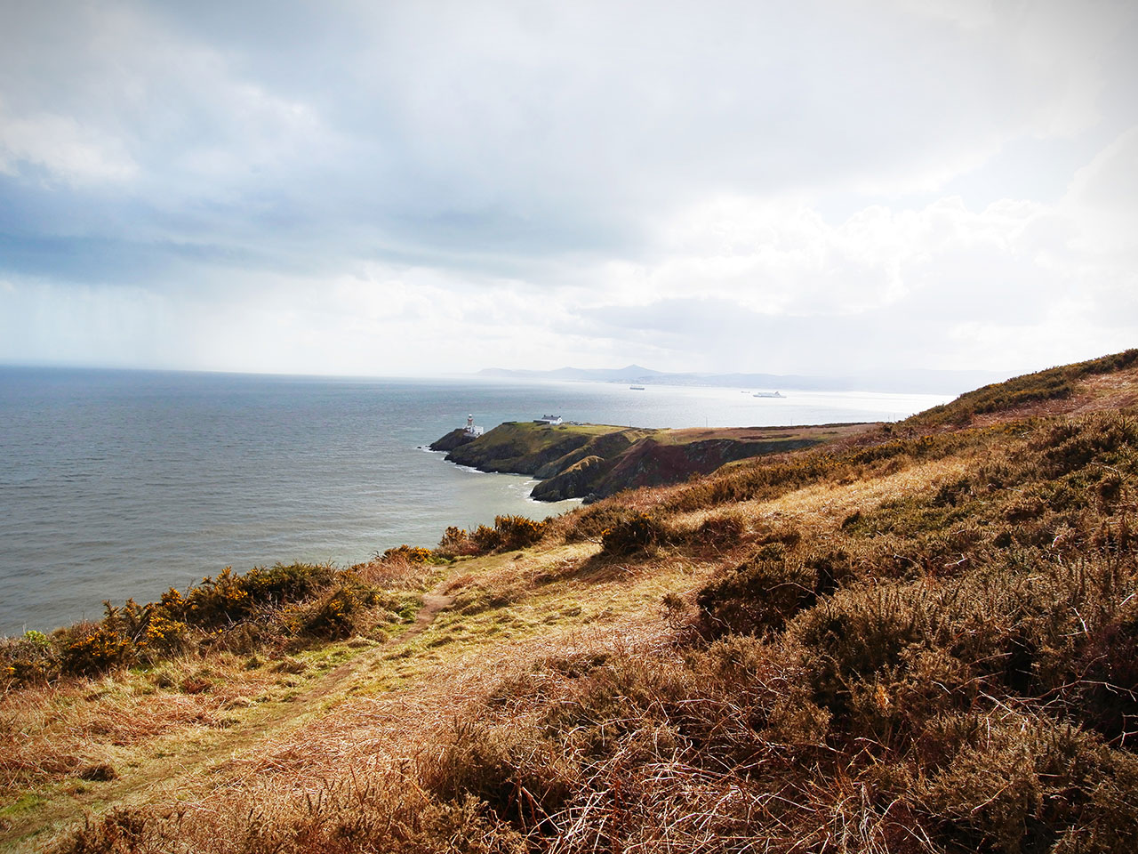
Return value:
[(473, 413), (637, 427), (896, 420), (951, 395), (0, 368), (0, 634), (151, 601), (226, 566), (351, 565), (577, 501), (424, 451)]

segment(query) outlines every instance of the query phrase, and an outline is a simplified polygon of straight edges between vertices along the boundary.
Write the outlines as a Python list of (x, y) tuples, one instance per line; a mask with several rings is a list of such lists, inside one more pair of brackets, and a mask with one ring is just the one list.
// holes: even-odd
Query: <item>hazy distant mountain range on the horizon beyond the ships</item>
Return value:
[(840, 377), (801, 373), (668, 373), (638, 364), (625, 368), (559, 368), (551, 371), (484, 368), (480, 377), (508, 379), (569, 379), (587, 383), (635, 383), (661, 386), (716, 386), (726, 388), (797, 388), (808, 392), (898, 392), (905, 394), (962, 394), (1007, 379), (999, 371), (941, 371), (897, 369)]

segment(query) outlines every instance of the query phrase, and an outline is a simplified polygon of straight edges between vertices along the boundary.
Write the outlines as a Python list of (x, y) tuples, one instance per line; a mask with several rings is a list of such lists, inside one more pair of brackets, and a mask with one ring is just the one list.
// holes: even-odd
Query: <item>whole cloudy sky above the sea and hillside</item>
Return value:
[(1130, 0), (0, 0), (0, 363), (1131, 346)]

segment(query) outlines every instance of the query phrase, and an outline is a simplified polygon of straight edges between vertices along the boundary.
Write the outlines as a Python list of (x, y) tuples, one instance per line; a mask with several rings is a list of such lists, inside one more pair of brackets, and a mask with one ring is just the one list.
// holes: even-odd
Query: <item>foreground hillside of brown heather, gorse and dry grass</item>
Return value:
[(1136, 851), (1135, 362), (10, 641), (0, 840)]

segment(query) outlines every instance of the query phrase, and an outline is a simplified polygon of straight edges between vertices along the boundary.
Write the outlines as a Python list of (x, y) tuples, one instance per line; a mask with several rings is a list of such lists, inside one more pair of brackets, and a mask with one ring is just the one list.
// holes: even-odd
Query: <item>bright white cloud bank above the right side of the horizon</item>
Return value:
[(1026, 369), (1121, 350), (1138, 328), (1136, 155), (1130, 130), (1053, 205), (946, 197), (832, 224), (802, 203), (717, 197), (661, 228), (655, 263), (599, 272), (622, 299), (577, 322), (716, 370)]

